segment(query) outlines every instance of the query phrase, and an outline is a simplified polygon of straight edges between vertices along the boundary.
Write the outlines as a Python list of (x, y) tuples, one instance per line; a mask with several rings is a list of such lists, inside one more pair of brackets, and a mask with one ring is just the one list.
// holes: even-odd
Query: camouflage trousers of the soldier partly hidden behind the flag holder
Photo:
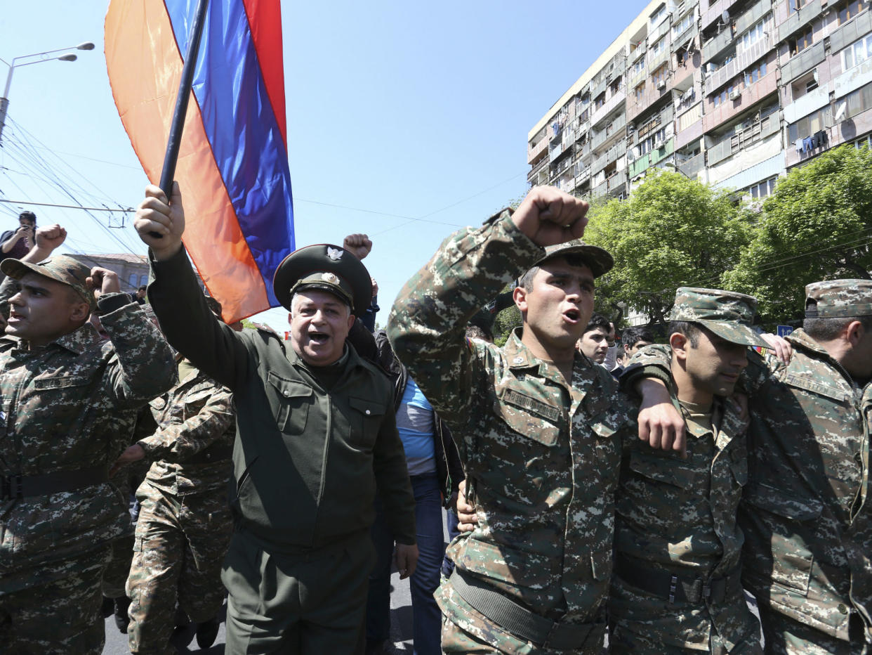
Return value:
[(173, 496), (144, 482), (127, 578), (133, 653), (174, 652), (169, 638), (179, 604), (194, 623), (215, 617), (224, 600), (221, 562), (233, 522), (221, 491)]

